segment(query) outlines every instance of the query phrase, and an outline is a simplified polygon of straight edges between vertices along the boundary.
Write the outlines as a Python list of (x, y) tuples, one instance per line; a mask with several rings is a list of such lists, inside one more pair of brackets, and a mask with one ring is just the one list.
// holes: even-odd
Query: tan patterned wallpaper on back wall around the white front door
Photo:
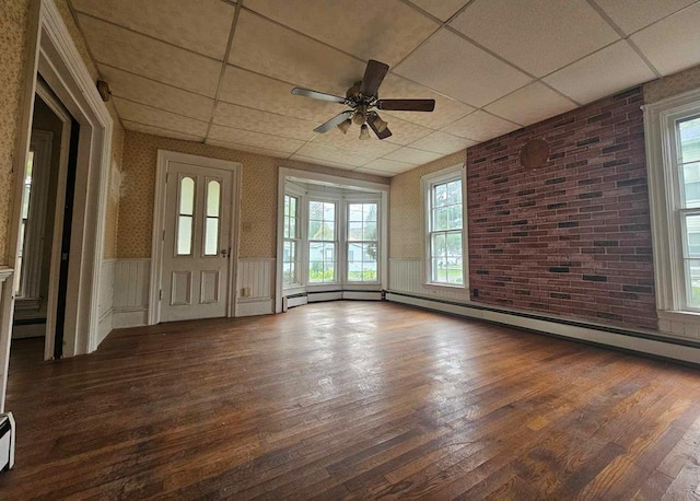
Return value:
[(272, 159), (198, 142), (127, 130), (124, 141), (117, 256), (150, 257), (158, 150), (177, 151), (243, 164), (238, 256), (275, 257), (278, 167), (334, 174), (388, 184), (384, 177)]

